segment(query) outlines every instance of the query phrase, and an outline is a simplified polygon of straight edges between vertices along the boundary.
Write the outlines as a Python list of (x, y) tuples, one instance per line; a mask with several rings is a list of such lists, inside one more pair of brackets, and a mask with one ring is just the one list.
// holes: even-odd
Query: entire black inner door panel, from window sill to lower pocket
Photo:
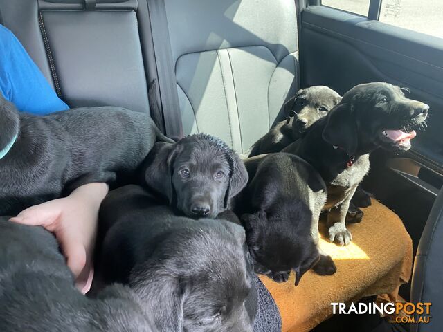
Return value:
[(428, 127), (417, 131), (413, 149), (401, 155), (378, 149), (363, 181), (399, 214), (415, 251), (443, 183), (443, 39), (326, 6), (307, 6), (300, 25), (301, 86), (343, 94), (363, 82), (390, 82), (430, 105)]

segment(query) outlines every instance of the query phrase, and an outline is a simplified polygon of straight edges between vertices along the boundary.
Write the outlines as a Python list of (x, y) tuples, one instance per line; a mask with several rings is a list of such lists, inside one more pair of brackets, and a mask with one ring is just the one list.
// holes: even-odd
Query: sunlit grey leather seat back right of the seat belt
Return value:
[(246, 151), (298, 89), (293, 0), (165, 0), (184, 133)]

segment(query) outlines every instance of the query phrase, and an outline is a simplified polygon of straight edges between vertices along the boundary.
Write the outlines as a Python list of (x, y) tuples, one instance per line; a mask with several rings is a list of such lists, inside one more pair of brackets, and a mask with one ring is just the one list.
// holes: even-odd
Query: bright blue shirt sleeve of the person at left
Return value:
[(69, 109), (10, 30), (0, 25), (0, 93), (19, 111), (47, 114)]

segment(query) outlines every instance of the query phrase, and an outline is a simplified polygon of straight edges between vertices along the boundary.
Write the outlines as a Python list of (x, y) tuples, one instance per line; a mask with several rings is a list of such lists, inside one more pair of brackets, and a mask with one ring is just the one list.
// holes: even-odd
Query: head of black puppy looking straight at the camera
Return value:
[(156, 143), (141, 168), (148, 188), (192, 218), (215, 218), (248, 182), (239, 156), (204, 133), (175, 144)]

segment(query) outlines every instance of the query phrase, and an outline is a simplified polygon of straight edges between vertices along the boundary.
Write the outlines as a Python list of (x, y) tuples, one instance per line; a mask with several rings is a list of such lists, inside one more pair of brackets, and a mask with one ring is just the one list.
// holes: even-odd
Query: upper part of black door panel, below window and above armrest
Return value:
[[(410, 158), (443, 174), (443, 41), (359, 15), (309, 6), (302, 13), (303, 86), (326, 84), (344, 93), (362, 82), (406, 86), (431, 106)], [(439, 188), (440, 189), (440, 188)]]

